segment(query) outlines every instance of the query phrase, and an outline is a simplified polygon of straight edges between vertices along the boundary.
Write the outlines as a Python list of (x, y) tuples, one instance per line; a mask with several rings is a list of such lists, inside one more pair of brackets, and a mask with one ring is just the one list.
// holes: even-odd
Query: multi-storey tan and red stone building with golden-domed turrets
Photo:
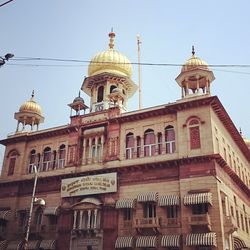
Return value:
[(0, 141), (0, 249), (23, 249), (27, 227), (29, 249), (250, 249), (250, 143), (213, 72), (193, 50), (179, 100), (128, 112), (132, 65), (109, 37), (82, 84), (90, 107), (79, 94), (69, 125), (39, 130), (33, 93)]

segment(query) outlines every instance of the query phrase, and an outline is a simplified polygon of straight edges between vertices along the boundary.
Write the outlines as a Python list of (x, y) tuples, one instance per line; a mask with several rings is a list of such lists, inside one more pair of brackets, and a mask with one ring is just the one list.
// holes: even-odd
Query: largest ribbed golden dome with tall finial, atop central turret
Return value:
[(132, 65), (129, 59), (114, 49), (115, 33), (110, 32), (109, 49), (98, 53), (90, 61), (88, 76), (94, 76), (104, 72), (132, 77)]

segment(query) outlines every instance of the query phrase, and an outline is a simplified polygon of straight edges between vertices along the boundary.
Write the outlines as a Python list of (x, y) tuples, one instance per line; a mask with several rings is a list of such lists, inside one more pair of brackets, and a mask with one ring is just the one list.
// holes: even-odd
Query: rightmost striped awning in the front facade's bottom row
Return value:
[(188, 234), (186, 237), (187, 246), (216, 246), (215, 233)]

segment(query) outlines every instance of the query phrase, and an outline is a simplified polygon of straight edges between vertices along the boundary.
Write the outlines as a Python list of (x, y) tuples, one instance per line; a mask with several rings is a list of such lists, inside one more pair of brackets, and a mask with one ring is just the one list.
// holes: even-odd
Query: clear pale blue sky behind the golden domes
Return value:
[[(7, 0), (0, 0), (1, 4)], [(0, 68), (0, 138), (15, 131), (14, 113), (32, 90), (45, 121), (40, 128), (70, 122), (71, 103), (87, 76), (88, 63), (23, 61), (22, 57), (90, 61), (108, 48), (108, 33), (116, 33), (115, 49), (137, 62), (184, 64), (196, 56), (209, 65), (250, 65), (249, 0), (13, 0), (0, 7), (0, 56), (15, 56)], [(235, 126), (250, 138), (250, 66), (210, 67), (217, 95)], [(181, 98), (175, 78), (181, 66), (142, 66), (142, 106)], [(133, 66), (133, 80), (138, 82)], [(85, 103), (89, 97), (81, 91)], [(138, 93), (128, 102), (138, 108)], [(4, 147), (0, 146), (0, 166)]]

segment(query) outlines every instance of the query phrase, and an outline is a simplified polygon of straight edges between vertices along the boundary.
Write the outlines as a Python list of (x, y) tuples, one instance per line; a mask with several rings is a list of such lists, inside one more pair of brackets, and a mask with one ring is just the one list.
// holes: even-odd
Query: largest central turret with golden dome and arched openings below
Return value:
[[(132, 64), (126, 56), (114, 49), (115, 33), (109, 33), (108, 49), (97, 53), (88, 67), (82, 90), (90, 96), (90, 112), (99, 112), (117, 106), (127, 111), (127, 100), (137, 86), (132, 80)], [(114, 93), (113, 90), (119, 90)]]

